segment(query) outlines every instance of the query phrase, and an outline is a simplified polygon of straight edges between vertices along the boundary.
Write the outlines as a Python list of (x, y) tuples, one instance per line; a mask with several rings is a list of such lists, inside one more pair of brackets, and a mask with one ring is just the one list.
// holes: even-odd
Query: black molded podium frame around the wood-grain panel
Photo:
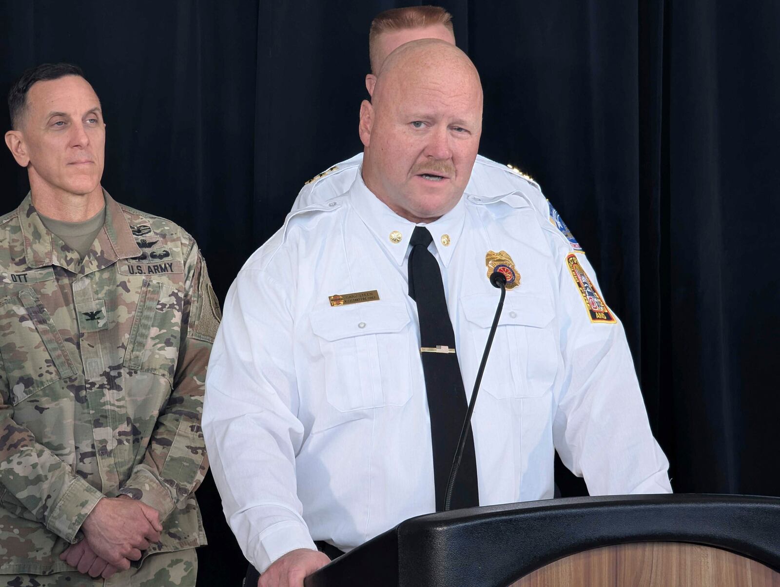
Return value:
[(378, 535), (304, 585), (506, 587), (555, 560), (626, 543), (730, 551), (769, 567), (764, 584), (780, 585), (770, 571), (780, 571), (780, 498), (576, 497), (429, 514)]

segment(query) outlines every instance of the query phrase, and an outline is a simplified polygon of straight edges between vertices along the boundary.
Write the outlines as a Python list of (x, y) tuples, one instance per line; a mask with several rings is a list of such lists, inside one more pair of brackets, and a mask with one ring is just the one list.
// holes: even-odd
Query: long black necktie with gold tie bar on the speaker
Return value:
[[(415, 227), (410, 240), (409, 295), (417, 302), (417, 315), (420, 317), (420, 354), (428, 411), (431, 413), (436, 511), (444, 511), (452, 457), (458, 447), (468, 405), (455, 353), (455, 333), (449, 321), (441, 271), (436, 258), (428, 251), (431, 240), (433, 238), (427, 228)], [(456, 484), (452, 489), (451, 505), (455, 510), (479, 504), (477, 459), (474, 457), (473, 436), (469, 432)]]

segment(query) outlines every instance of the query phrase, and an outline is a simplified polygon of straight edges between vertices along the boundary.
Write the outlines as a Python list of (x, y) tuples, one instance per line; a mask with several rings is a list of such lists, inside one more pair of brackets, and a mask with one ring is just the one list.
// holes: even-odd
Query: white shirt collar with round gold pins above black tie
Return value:
[[(409, 240), (417, 225), (397, 215), (366, 187), (363, 182), (362, 167), (352, 187), (349, 188), (349, 201), (360, 219), (365, 222), (371, 233), (374, 233), (374, 237), (388, 251), (390, 257), (396, 264), (402, 265), (409, 249)], [(466, 207), (462, 197), (455, 208), (440, 219), (419, 225), (425, 226), (431, 233), (438, 256), (445, 267), (449, 265), (452, 252), (459, 243), (465, 219)]]

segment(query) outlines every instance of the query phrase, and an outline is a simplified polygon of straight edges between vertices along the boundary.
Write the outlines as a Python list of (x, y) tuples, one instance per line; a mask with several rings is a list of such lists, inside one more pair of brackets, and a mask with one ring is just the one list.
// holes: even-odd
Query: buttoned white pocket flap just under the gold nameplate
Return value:
[(399, 333), (409, 321), (406, 304), (399, 302), (370, 301), (311, 313), (314, 334), (330, 342), (366, 334)]

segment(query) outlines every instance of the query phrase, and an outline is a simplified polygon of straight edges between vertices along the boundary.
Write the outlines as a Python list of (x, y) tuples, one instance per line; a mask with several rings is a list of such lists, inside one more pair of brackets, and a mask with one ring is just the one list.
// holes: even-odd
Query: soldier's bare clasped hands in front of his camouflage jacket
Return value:
[(154, 507), (127, 496), (104, 497), (84, 520), (84, 539), (59, 556), (90, 577), (111, 577), (126, 571), (130, 560), (160, 540), (160, 514)]

